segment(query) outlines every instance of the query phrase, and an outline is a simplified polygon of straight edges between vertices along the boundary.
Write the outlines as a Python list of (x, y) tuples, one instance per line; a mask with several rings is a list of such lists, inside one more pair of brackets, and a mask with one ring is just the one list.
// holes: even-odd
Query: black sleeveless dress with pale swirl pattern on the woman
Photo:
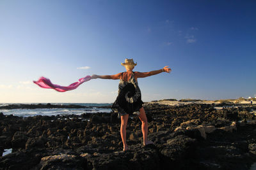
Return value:
[(118, 117), (127, 114), (140, 115), (142, 104), (140, 88), (134, 78), (134, 73), (131, 75), (129, 81), (124, 81), (121, 78), (118, 85), (118, 96), (111, 107), (113, 112), (118, 113)]

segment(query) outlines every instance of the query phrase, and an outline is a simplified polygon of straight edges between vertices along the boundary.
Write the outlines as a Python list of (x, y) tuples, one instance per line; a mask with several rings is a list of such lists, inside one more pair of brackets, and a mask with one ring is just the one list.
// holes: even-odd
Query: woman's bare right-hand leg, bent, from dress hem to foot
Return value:
[(140, 108), (139, 118), (141, 120), (141, 131), (143, 134), (143, 145), (153, 144), (152, 141), (148, 141), (148, 120), (144, 108)]

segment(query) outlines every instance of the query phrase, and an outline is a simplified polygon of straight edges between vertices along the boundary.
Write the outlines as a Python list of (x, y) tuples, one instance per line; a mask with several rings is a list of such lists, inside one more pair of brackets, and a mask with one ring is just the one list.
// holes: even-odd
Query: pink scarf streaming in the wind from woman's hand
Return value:
[(89, 81), (91, 79), (92, 79), (91, 76), (86, 76), (84, 78), (80, 78), (77, 82), (72, 83), (71, 85), (68, 85), (67, 87), (60, 86), (60, 85), (54, 85), (54, 84), (52, 84), (51, 80), (49, 80), (49, 78), (45, 78), (45, 77), (40, 77), (39, 80), (33, 81), (33, 82), (36, 85), (38, 85), (39, 87), (42, 87), (45, 89), (54, 89), (54, 90), (57, 90), (58, 92), (66, 92), (67, 90), (76, 89), (77, 87), (79, 87), (79, 85), (81, 85), (85, 81)]

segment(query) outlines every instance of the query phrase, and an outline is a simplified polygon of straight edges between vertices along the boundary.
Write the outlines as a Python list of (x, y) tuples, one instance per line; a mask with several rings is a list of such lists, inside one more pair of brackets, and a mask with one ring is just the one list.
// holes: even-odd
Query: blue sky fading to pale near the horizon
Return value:
[[(255, 1), (0, 1), (0, 103), (112, 103), (116, 74), (132, 58), (143, 101), (256, 96)], [(77, 69), (86, 67), (87, 69)], [(89, 68), (88, 68), (89, 67)]]

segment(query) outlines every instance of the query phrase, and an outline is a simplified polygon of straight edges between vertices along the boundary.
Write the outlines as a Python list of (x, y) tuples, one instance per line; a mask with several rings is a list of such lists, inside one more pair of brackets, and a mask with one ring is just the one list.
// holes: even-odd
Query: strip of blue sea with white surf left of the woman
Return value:
[[(4, 115), (14, 115), (18, 117), (33, 117), (33, 116), (52, 116), (52, 115), (81, 115), (83, 113), (110, 113), (109, 108), (97, 108), (98, 106), (109, 106), (112, 103), (51, 103), (51, 105), (69, 105), (76, 104), (80, 106), (87, 106), (88, 108), (37, 108), (37, 109), (1, 109), (1, 106), (8, 106), (10, 104), (39, 104), (39, 103), (0, 103), (0, 113)], [(47, 104), (47, 103), (40, 103)]]

